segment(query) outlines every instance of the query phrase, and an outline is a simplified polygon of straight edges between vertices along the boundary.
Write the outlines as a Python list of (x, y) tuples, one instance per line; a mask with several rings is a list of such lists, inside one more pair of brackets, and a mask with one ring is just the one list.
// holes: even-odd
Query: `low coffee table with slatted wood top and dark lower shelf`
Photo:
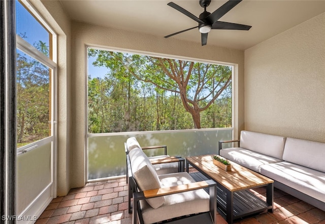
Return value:
[[(235, 219), (266, 211), (273, 212), (273, 180), (231, 162), (232, 171), (224, 171), (213, 164), (213, 155), (186, 157), (188, 165), (200, 173), (191, 173), (197, 181), (213, 179), (217, 182), (217, 209), (228, 223)], [(249, 189), (266, 186), (266, 201)]]

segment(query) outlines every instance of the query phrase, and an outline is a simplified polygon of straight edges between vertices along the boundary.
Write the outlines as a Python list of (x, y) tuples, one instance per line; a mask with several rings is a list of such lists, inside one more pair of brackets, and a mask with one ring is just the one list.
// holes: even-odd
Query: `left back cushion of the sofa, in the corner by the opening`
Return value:
[(240, 147), (282, 160), (285, 137), (241, 131)]

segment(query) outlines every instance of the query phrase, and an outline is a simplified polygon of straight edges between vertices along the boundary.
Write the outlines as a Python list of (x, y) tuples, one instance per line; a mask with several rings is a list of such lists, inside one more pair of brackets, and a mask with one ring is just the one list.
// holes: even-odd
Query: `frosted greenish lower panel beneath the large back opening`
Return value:
[[(125, 175), (124, 142), (136, 137), (141, 146), (167, 145), (170, 156), (218, 154), (218, 141), (231, 140), (233, 128), (88, 134), (88, 180)], [(148, 156), (161, 155), (163, 150)]]

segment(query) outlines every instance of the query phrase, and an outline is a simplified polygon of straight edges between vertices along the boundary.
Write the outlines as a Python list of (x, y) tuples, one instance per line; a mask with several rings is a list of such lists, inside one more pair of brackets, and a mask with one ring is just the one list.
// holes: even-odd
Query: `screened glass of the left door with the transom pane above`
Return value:
[(51, 136), (55, 35), (27, 2), (16, 1), (17, 147)]

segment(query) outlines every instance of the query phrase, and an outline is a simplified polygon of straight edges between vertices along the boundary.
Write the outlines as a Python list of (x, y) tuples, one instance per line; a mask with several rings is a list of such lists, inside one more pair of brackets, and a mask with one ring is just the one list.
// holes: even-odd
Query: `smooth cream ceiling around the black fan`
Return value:
[[(204, 9), (199, 0), (171, 0), (199, 17)], [(61, 0), (64, 10), (72, 20), (164, 36), (197, 26), (198, 23), (178, 12), (165, 0)], [(212, 13), (225, 0), (211, 2), (207, 11)], [(278, 33), (294, 27), (325, 12), (325, 0), (243, 0), (219, 21), (251, 25), (248, 31), (211, 30), (209, 45), (232, 49), (248, 49)], [(170, 37), (201, 43), (198, 29), (192, 29)], [(206, 47), (206, 46), (203, 46)]]

